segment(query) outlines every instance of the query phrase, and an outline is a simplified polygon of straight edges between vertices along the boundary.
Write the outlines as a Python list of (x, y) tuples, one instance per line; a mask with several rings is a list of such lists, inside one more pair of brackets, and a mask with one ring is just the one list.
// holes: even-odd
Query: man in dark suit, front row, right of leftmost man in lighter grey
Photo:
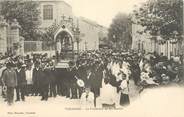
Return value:
[(21, 65), (18, 63), (17, 65), (17, 87), (16, 87), (16, 101), (20, 101), (20, 93), (22, 101), (25, 101), (25, 90), (26, 90), (26, 72), (25, 72), (26, 65)]

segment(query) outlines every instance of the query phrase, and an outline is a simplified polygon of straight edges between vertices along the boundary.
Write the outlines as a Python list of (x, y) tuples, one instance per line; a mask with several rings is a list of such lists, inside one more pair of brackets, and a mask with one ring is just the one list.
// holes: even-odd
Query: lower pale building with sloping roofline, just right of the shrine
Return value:
[(107, 37), (107, 28), (80, 17), (79, 27), (82, 33), (80, 50), (98, 50), (100, 40)]

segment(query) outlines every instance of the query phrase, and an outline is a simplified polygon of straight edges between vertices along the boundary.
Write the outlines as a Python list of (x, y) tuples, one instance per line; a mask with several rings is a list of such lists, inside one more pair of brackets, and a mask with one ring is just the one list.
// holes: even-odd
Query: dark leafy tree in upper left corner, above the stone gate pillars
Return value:
[(6, 0), (0, 4), (1, 15), (9, 22), (13, 19), (17, 19), (21, 26), (20, 35), (23, 36), (25, 40), (38, 40), (40, 36), (36, 31), (40, 24), (38, 2), (31, 0)]

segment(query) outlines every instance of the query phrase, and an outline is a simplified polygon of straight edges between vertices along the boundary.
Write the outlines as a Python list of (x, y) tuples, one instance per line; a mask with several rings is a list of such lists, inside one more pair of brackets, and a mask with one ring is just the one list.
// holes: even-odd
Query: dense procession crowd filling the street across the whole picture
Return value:
[[(9, 105), (27, 96), (65, 96), (80, 99), (85, 107), (103, 108), (130, 104), (129, 81), (144, 88), (179, 82), (183, 77), (182, 57), (168, 59), (161, 53), (112, 50), (81, 52), (68, 68), (56, 68), (56, 57), (47, 54), (9, 57), (1, 63), (2, 96)], [(140, 92), (141, 92), (140, 91)], [(99, 99), (99, 100), (97, 100)]]

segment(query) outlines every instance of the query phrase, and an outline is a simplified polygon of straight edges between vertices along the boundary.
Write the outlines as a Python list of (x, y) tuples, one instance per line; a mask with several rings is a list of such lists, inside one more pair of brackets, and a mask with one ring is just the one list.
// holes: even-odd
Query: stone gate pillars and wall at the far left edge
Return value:
[(19, 34), (20, 25), (16, 19), (7, 23), (5, 19), (0, 16), (0, 53), (23, 55), (23, 41)]

